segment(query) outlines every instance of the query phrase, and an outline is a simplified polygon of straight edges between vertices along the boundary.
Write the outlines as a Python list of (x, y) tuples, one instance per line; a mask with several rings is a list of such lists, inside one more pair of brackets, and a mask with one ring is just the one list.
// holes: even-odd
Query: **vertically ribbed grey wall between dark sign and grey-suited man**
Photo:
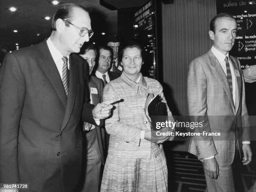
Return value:
[(174, 4), (162, 4), (163, 80), (166, 96), (172, 96), (169, 106), (176, 115), (187, 114), (188, 65), (210, 49), (208, 31), (214, 15), (215, 0), (174, 0)]

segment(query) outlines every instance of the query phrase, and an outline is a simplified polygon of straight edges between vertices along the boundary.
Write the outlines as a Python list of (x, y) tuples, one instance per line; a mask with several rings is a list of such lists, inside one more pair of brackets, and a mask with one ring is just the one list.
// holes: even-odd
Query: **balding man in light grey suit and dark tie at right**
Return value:
[(243, 164), (251, 162), (243, 72), (239, 61), (228, 53), (234, 45), (236, 31), (232, 15), (216, 15), (209, 31), (212, 48), (189, 65), (189, 115), (204, 120), (200, 131), (221, 134), (220, 137), (194, 136), (189, 146), (189, 152), (203, 162), (209, 192), (236, 191), (231, 165), (239, 152), (243, 152)]

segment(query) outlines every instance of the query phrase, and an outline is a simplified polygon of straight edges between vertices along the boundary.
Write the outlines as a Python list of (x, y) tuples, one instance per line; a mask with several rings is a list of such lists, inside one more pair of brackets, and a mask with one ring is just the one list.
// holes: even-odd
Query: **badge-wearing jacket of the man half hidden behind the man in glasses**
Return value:
[[(102, 93), (103, 93), (103, 82), (100, 78), (95, 76), (90, 76), (89, 79), (90, 88), (96, 88), (97, 94), (92, 93), (92, 103), (93, 105), (97, 105), (102, 102)], [(104, 127), (96, 126), (96, 136), (98, 140), (98, 145), (100, 149), (100, 157), (102, 163), (105, 162), (105, 151), (106, 151), (106, 131)]]

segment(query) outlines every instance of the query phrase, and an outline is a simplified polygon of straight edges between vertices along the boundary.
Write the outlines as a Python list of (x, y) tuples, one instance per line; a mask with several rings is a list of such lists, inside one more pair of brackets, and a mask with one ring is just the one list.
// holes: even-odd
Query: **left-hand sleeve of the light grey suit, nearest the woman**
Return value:
[[(201, 63), (197, 60), (189, 64), (187, 98), (191, 120), (204, 122), (202, 128), (195, 128), (195, 132), (211, 132), (207, 116), (207, 78)], [(192, 139), (195, 141), (198, 159), (217, 154), (212, 136), (194, 136)]]

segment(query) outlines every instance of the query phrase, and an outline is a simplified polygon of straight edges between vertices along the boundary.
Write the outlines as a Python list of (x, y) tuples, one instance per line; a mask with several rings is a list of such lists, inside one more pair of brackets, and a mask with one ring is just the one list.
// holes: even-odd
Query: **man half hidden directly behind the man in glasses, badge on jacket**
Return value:
[[(102, 100), (103, 81), (95, 76), (91, 76), (95, 66), (97, 56), (96, 48), (88, 45), (82, 48), (79, 55), (89, 64), (89, 91), (90, 103), (97, 105)], [(99, 192), (102, 177), (102, 168), (105, 163), (106, 154), (106, 131), (102, 126), (95, 126), (84, 122), (85, 134), (85, 172), (82, 179), (82, 192)]]

